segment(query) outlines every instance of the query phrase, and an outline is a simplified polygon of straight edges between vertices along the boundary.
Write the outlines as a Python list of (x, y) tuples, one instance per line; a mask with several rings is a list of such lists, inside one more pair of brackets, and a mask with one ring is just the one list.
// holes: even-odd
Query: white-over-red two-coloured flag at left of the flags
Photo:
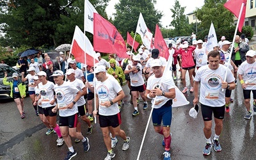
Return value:
[[(85, 42), (84, 42), (85, 40)], [(86, 52), (86, 62), (84, 61), (84, 49)], [(93, 66), (93, 57), (95, 58), (96, 63), (99, 62), (95, 51), (93, 51), (92, 44), (90, 40), (84, 35), (83, 31), (76, 26), (70, 53), (74, 55), (76, 61), (84, 63), (86, 65)]]

